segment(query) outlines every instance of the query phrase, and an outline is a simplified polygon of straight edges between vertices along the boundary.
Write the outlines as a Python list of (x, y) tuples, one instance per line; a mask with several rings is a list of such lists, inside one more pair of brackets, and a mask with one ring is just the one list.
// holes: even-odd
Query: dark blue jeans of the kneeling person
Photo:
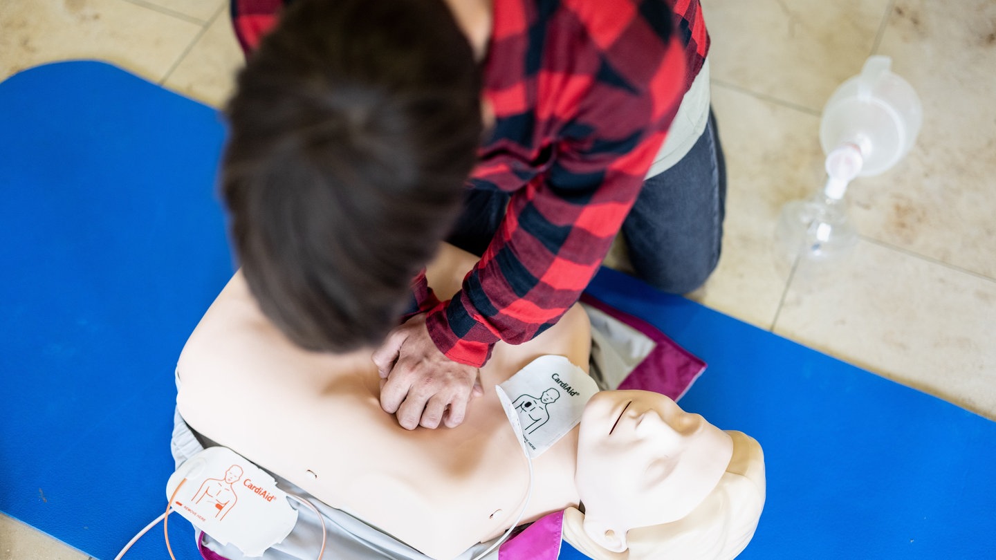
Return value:
[[(508, 199), (502, 191), (467, 191), (462, 214), (446, 240), (484, 254)], [(643, 182), (622, 223), (636, 276), (675, 294), (701, 286), (719, 261), (725, 203), (726, 164), (710, 110), (695, 145), (672, 167)]]

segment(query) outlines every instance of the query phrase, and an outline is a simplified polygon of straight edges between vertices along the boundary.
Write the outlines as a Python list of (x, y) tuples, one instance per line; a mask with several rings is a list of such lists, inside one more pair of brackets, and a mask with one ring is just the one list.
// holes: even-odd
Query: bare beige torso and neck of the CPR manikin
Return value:
[[(444, 246), (428, 270), (440, 298), (473, 261)], [(456, 428), (409, 431), (379, 406), (373, 349), (304, 351), (265, 319), (236, 274), (183, 349), (177, 407), (186, 422), (260, 466), (434, 558), (451, 558), (514, 521), (528, 467), (494, 386), (546, 354), (587, 370), (587, 317), (516, 347), (481, 369), (482, 397)], [(577, 506), (578, 428), (534, 460), (522, 522)]]

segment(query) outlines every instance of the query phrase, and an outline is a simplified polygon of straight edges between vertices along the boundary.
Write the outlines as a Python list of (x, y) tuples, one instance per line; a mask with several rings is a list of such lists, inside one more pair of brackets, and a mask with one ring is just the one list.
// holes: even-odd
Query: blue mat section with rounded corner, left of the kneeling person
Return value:
[[(0, 509), (102, 560), (165, 510), (176, 358), (233, 271), (223, 137), (104, 64), (0, 84)], [(161, 527), (127, 558), (168, 558)]]

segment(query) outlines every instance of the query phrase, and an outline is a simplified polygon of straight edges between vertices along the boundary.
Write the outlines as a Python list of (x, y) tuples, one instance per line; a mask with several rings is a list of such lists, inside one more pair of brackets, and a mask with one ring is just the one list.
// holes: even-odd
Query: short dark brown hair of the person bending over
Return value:
[(459, 208), (481, 135), (440, 0), (298, 0), (228, 105), (222, 188), (263, 313), (311, 350), (379, 342)]

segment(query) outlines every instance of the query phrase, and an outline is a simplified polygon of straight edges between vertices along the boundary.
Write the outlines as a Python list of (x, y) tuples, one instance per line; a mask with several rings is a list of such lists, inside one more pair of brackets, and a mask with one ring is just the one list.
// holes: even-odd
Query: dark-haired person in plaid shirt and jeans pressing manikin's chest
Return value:
[[(621, 230), (659, 289), (715, 267), (725, 173), (697, 0), (233, 15), (248, 58), (222, 179), (248, 288), (302, 348), (376, 342), (401, 426), (461, 423), (495, 344), (560, 321)], [(421, 271), (444, 238), (478, 259), (438, 299)]]

